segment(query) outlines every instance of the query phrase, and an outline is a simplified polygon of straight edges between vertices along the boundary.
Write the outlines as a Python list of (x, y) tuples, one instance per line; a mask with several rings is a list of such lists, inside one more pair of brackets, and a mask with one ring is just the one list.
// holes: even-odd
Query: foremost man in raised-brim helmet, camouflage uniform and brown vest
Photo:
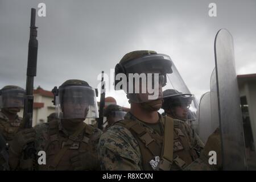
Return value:
[[(119, 73), (126, 76), (129, 73), (159, 73), (156, 84), (162, 88), (170, 81), (168, 74), (172, 73), (179, 79), (180, 86), (186, 87), (170, 57), (155, 51), (127, 53), (115, 66), (115, 76)], [(118, 84), (119, 82), (115, 81), (115, 89), (122, 89)], [(169, 82), (168, 85), (173, 84)], [(159, 91), (162, 92), (160, 87)], [(162, 117), (157, 112), (163, 104), (162, 93), (159, 93), (155, 100), (147, 99), (149, 92), (146, 94), (127, 93), (135, 115), (127, 113), (125, 119), (114, 123), (101, 135), (98, 147), (101, 169), (192, 169), (187, 167), (189, 164), (198, 163), (200, 151), (204, 147), (203, 142), (184, 121)], [(135, 117), (147, 118), (143, 117), (144, 113), (151, 113), (152, 117), (148, 118), (152, 120), (140, 121)], [(154, 122), (155, 118), (159, 118), (158, 122)], [(173, 140), (173, 143), (168, 143), (170, 140)], [(199, 164), (202, 169), (205, 169), (205, 166)]]

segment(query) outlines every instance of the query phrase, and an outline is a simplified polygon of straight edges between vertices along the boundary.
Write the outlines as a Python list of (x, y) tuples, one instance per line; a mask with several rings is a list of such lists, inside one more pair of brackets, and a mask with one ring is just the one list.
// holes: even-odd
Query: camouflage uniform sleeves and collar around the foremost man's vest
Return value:
[[(138, 122), (145, 130), (150, 133), (152, 138), (156, 135), (159, 138), (163, 138), (163, 127), (164, 127), (164, 117), (159, 114), (159, 127), (160, 133), (157, 132), (150, 125), (139, 121), (131, 113), (127, 113), (124, 121), (133, 120)], [(122, 122), (122, 121), (120, 121)], [(137, 137), (132, 134), (130, 130), (122, 125), (118, 125), (117, 122), (111, 126), (100, 138), (99, 155), (101, 161), (102, 170), (150, 170), (149, 160), (143, 162), (143, 154), (139, 147), (139, 142)], [(199, 140), (198, 136), (193, 133), (191, 127), (184, 123), (174, 119), (174, 129), (176, 132), (176, 137), (174, 138), (174, 156), (179, 154), (179, 158), (191, 163), (196, 160), (198, 156), (196, 151), (200, 152), (204, 144)], [(187, 140), (188, 143), (183, 142)], [(161, 139), (160, 139), (161, 141)], [(159, 143), (159, 150), (161, 151), (162, 142)], [(187, 146), (185, 146), (187, 144)], [(194, 151), (194, 152), (193, 152)], [(192, 155), (191, 155), (192, 154)], [(160, 155), (159, 155), (160, 156)], [(172, 170), (179, 169), (175, 164), (172, 166)]]

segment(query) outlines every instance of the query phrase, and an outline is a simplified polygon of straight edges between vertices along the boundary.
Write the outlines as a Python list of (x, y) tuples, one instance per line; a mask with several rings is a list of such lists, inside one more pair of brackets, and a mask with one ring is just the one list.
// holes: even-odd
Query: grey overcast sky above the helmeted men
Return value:
[[(36, 17), (38, 69), (35, 88), (51, 90), (65, 80), (88, 81), (110, 74), (125, 53), (150, 49), (170, 55), (191, 93), (209, 90), (214, 37), (227, 28), (234, 38), (238, 75), (256, 72), (256, 1), (14, 1), (0, 0), (0, 88), (25, 88), (30, 9)], [(209, 3), (217, 17), (209, 17)], [(122, 91), (106, 93), (129, 106)]]

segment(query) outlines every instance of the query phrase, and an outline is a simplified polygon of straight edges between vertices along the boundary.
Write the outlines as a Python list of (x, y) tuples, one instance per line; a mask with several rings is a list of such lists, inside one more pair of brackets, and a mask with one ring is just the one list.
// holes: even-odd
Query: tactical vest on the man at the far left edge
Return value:
[[(20, 121), (20, 119), (19, 119)], [(20, 122), (10, 122), (4, 118), (0, 118), (0, 132), (7, 142), (13, 140), (14, 135), (18, 132)]]

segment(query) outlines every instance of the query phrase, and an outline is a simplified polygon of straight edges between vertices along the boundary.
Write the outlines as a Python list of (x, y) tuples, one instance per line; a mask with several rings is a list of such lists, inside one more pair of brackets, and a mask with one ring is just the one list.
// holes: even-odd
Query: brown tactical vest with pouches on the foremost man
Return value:
[[(164, 117), (164, 120), (165, 119), (166, 117)], [(152, 164), (150, 164), (150, 162), (156, 159), (156, 156), (162, 159), (164, 136), (160, 136), (157, 133), (151, 134), (148, 132), (148, 130), (145, 129), (146, 126), (144, 126), (143, 123), (132, 119), (124, 119), (118, 123), (115, 123), (115, 125), (126, 127), (126, 129), (128, 129), (131, 134), (133, 134), (134, 138), (137, 139), (139, 148), (141, 150), (142, 170), (153, 170)], [(198, 155), (196, 154), (196, 151), (193, 150), (191, 143), (188, 142), (188, 135), (181, 131), (179, 125), (177, 125), (176, 122), (174, 122), (174, 131), (170, 132), (174, 132), (174, 163), (171, 166), (171, 170), (182, 170), (188, 164), (192, 163), (193, 160), (196, 160)]]

